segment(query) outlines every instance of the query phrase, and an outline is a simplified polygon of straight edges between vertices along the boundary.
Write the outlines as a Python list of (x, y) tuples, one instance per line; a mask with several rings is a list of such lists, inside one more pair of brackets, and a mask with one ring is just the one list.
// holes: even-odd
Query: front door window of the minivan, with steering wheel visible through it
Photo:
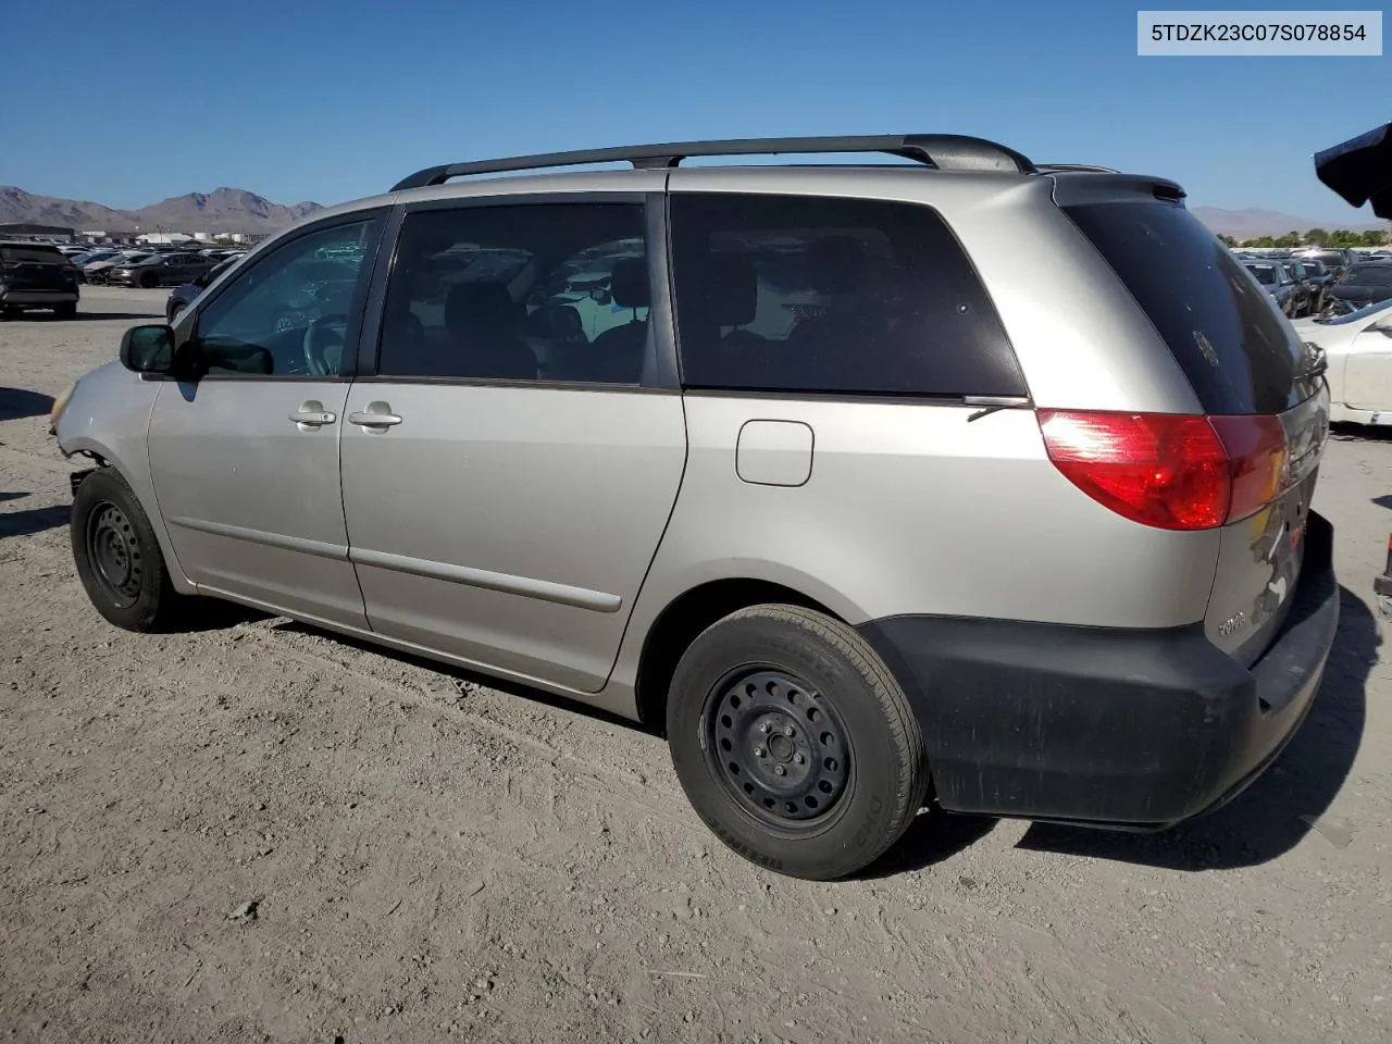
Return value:
[(301, 235), (234, 278), (198, 317), (212, 373), (334, 376), (373, 221)]

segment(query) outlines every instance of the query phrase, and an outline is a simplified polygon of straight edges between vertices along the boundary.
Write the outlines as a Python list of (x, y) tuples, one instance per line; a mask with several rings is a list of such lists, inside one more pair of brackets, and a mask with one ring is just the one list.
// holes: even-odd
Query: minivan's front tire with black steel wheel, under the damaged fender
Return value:
[(72, 557), (88, 597), (125, 631), (168, 631), (191, 599), (174, 590), (139, 500), (113, 468), (100, 468), (72, 498)]

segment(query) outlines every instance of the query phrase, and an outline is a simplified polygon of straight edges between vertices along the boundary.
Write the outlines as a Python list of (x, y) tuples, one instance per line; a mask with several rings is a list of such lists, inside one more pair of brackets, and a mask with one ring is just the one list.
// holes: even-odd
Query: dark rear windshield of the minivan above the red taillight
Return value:
[(1295, 331), (1189, 210), (1158, 202), (1063, 210), (1155, 324), (1204, 412), (1279, 413), (1306, 398)]

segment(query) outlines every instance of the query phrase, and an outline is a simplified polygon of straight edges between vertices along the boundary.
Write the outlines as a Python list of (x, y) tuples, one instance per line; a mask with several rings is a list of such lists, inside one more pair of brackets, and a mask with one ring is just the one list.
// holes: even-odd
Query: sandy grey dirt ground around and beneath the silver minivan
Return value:
[(75, 322), (0, 326), (0, 1033), (1392, 1038), (1370, 610), (1392, 441), (1329, 450), (1338, 646), (1237, 802), (1150, 837), (923, 816), (873, 874), (810, 884), (722, 848), (621, 721), (239, 611), (106, 625), (46, 415), (163, 296), (89, 288)]

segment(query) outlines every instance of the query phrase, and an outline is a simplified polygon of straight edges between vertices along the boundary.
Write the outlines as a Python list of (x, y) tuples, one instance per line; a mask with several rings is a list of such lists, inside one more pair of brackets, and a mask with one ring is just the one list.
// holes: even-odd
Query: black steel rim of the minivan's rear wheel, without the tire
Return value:
[(780, 827), (827, 816), (851, 778), (851, 742), (831, 700), (795, 674), (736, 671), (706, 696), (706, 754), (728, 793)]

